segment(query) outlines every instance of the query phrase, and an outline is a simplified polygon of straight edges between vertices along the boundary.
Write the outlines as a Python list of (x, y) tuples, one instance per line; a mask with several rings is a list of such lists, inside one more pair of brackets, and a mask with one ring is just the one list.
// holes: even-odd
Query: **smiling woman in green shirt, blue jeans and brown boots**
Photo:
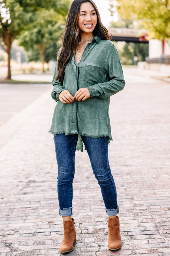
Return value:
[(75, 151), (82, 151), (82, 141), (109, 216), (109, 249), (117, 250), (122, 243), (116, 187), (108, 161), (107, 146), (112, 140), (108, 111), (110, 96), (122, 90), (125, 81), (117, 50), (92, 0), (74, 0), (70, 6), (53, 85), (52, 98), (58, 103), (49, 132), (54, 134), (59, 214), (64, 226), (60, 251), (72, 251), (76, 241), (72, 183)]

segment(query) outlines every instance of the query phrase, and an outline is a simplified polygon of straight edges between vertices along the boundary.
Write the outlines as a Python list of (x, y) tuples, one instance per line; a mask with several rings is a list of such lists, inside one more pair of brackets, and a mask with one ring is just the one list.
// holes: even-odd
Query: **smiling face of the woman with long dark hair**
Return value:
[(97, 14), (90, 2), (82, 3), (80, 5), (78, 26), (80, 33), (91, 33), (97, 24)]

